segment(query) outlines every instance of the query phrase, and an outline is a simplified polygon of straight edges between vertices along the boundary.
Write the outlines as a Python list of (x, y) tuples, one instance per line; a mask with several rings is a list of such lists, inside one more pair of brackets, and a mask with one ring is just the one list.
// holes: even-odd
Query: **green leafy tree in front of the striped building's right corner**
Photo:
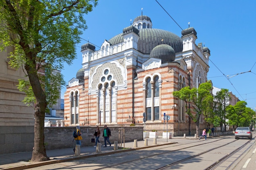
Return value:
[[(213, 96), (211, 95), (212, 84), (205, 82), (200, 84), (198, 88), (190, 89), (186, 86), (180, 91), (174, 91), (173, 96), (184, 100), (186, 103), (186, 113), (191, 117), (196, 125), (196, 136), (199, 137), (199, 123), (202, 114), (209, 112), (213, 103)], [(190, 104), (190, 108), (188, 107)], [(193, 112), (191, 111), (193, 108)]]

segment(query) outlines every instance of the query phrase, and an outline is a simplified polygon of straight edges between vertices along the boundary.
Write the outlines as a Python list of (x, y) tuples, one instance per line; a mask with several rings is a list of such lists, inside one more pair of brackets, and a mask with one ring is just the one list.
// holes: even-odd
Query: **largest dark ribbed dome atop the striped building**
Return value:
[[(123, 33), (118, 34), (110, 38), (108, 42), (110, 42), (111, 45), (124, 42), (122, 35)], [(182, 52), (183, 49), (182, 39), (174, 33), (162, 29), (139, 29), (138, 51), (150, 54), (155, 46), (161, 44), (171, 46), (175, 53)]]

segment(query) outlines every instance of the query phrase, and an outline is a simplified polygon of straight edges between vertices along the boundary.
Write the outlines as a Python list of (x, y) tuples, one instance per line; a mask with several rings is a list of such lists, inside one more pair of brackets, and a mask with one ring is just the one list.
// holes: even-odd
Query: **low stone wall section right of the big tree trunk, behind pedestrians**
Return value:
[[(143, 140), (143, 127), (138, 126), (108, 126), (111, 130), (110, 142), (114, 144), (114, 141), (119, 141), (119, 129), (124, 128), (124, 137), (122, 137), (122, 142)], [(60, 149), (60, 148), (71, 148), (76, 145), (76, 141), (73, 141), (73, 131), (76, 126), (72, 127), (45, 127), (45, 148), (47, 150)], [(94, 146), (95, 143), (91, 143), (91, 139), (94, 138), (93, 134), (95, 131), (95, 126), (81, 126), (82, 141), (81, 146)], [(100, 127), (101, 136), (99, 141), (104, 144), (103, 135), (104, 127)], [(121, 137), (121, 131), (120, 131)], [(108, 145), (108, 142), (107, 142)]]

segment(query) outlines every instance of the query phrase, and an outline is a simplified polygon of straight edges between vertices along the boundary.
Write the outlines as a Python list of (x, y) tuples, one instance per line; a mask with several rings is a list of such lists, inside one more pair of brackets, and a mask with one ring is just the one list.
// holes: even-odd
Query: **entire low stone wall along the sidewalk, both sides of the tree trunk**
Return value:
[[(123, 128), (124, 137), (122, 142), (143, 140), (143, 127), (138, 126), (108, 126), (111, 130), (110, 142), (114, 144), (114, 141), (119, 141), (119, 129)], [(45, 127), (45, 148), (60, 149), (71, 148), (76, 145), (76, 141), (73, 141), (73, 131), (76, 129), (73, 127)], [(104, 127), (100, 127), (101, 137), (99, 141), (104, 143), (102, 137)], [(95, 143), (91, 143), (91, 139), (94, 137), (95, 126), (81, 126), (81, 133), (83, 140), (81, 146), (94, 146)], [(120, 131), (121, 133), (121, 131)], [(121, 137), (121, 134), (120, 134)], [(108, 144), (108, 143), (107, 143)], [(29, 152), (34, 147), (34, 126), (0, 126), (0, 154), (16, 153), (16, 152)]]

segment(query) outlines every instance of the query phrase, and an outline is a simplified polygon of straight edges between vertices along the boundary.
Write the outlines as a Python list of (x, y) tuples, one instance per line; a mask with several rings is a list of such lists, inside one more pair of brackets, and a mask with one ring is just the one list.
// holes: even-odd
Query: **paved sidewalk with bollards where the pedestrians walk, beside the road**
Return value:
[(125, 144), (121, 145), (121, 147), (130, 148), (130, 149), (122, 149), (122, 150), (121, 149), (114, 150), (114, 144), (106, 148), (103, 147), (103, 145), (101, 145), (100, 153), (96, 152), (96, 148), (94, 148), (92, 144), (92, 146), (81, 147), (80, 156), (74, 155), (73, 148), (46, 150), (47, 156), (50, 158), (50, 160), (43, 161), (43, 162), (36, 162), (36, 163), (29, 162), (32, 156), (32, 152), (2, 154), (0, 155), (0, 170), (22, 170), (26, 168), (35, 168), (38, 166), (43, 166), (43, 165), (52, 164), (52, 163), (60, 163), (64, 161), (85, 159), (88, 157), (97, 157), (101, 155), (108, 155), (111, 153), (126, 152), (129, 150), (137, 150), (137, 149), (155, 147), (160, 145), (175, 144), (177, 142), (175, 142), (174, 139), (195, 139), (195, 138), (192, 136), (189, 136), (186, 138), (172, 137), (172, 139), (157, 138), (157, 144), (154, 144), (153, 138), (147, 138), (148, 146), (144, 146), (144, 140), (143, 140), (143, 141), (137, 141), (137, 148), (134, 148), (134, 141), (132, 141), (132, 142), (126, 142)]

